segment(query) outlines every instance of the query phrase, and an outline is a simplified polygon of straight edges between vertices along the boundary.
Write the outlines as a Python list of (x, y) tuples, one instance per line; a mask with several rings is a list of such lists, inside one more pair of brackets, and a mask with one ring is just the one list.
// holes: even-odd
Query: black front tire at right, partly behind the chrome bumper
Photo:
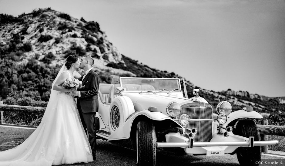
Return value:
[[(235, 134), (246, 138), (253, 136), (254, 141), (260, 141), (260, 133), (253, 120), (240, 120), (236, 125)], [(240, 147), (236, 156), (240, 165), (258, 165), (256, 162), (261, 160), (261, 147)]]

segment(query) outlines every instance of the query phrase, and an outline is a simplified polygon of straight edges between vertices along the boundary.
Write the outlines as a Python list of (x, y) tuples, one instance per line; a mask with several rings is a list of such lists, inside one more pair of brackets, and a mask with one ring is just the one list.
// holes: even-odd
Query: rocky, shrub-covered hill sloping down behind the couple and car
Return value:
[[(183, 78), (122, 55), (97, 22), (72, 18), (50, 8), (18, 17), (0, 14), (0, 35), (0, 96), (6, 104), (44, 106), (59, 67), (72, 53), (93, 57), (94, 70), (103, 83), (110, 82), (113, 76)], [(258, 112), (284, 115), (285, 101), (281, 98), (265, 99), (258, 94), (230, 89), (209, 91), (186, 80), (190, 97), (193, 88), (200, 89), (200, 96), (214, 110), (220, 101), (226, 100), (233, 105), (233, 110), (253, 106)]]

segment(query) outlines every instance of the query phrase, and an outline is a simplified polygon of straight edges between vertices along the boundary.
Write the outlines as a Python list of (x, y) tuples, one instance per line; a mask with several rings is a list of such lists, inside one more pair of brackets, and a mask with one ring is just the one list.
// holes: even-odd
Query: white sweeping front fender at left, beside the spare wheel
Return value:
[(137, 111), (137, 112), (132, 113), (128, 117), (126, 122), (123, 123), (121, 126), (119, 126), (118, 129), (116, 129), (108, 137), (108, 141), (119, 140), (119, 139), (128, 139), (130, 137), (130, 134), (131, 134), (132, 124), (134, 123), (134, 121), (136, 121), (137, 118), (140, 118), (142, 116), (145, 118), (148, 118), (150, 120), (155, 120), (155, 121), (171, 120), (172, 123), (176, 123), (177, 126), (179, 126), (183, 129), (183, 127), (181, 125), (179, 125), (177, 122), (175, 122), (170, 117), (166, 116), (165, 114), (163, 114), (161, 112), (150, 112), (148, 110), (142, 110), (142, 111)]

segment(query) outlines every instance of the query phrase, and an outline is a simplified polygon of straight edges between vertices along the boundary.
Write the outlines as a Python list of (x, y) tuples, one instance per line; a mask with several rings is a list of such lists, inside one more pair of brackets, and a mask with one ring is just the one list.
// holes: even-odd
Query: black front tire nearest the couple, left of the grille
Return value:
[(156, 134), (153, 123), (140, 121), (136, 129), (137, 166), (156, 165)]

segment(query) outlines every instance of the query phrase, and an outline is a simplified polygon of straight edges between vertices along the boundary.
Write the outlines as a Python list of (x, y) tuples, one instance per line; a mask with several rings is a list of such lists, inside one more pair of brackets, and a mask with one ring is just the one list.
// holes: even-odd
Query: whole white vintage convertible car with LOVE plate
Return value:
[(136, 150), (137, 165), (155, 165), (156, 152), (171, 155), (237, 154), (241, 165), (261, 159), (261, 145), (253, 119), (262, 116), (253, 107), (232, 112), (231, 104), (220, 102), (213, 113), (208, 102), (187, 98), (179, 78), (113, 78), (100, 84), (97, 137)]

